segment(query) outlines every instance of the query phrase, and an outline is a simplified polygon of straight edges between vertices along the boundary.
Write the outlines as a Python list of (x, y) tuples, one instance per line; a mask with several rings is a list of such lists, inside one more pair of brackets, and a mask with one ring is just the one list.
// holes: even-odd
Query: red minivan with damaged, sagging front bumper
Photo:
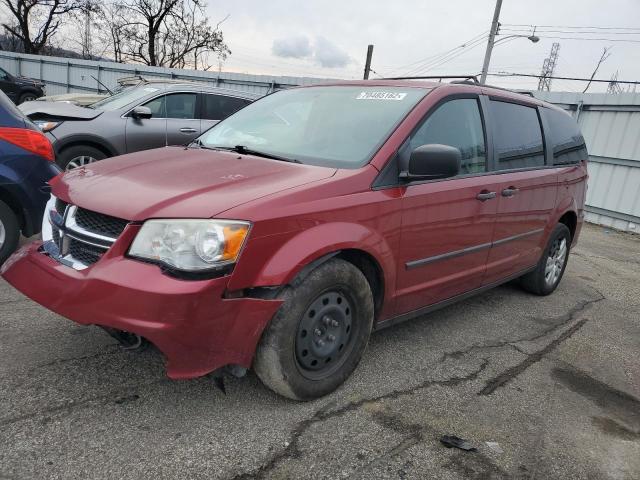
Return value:
[(171, 378), (254, 368), (309, 400), (372, 329), (513, 279), (557, 287), (584, 216), (575, 121), (471, 81), (341, 82), (268, 95), (186, 147), (51, 181), (43, 242), (2, 275)]

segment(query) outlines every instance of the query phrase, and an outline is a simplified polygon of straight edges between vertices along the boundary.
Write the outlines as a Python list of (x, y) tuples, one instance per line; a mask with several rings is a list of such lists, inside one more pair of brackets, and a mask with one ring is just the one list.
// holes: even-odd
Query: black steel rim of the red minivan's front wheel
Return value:
[(323, 292), (309, 304), (295, 339), (296, 364), (303, 376), (326, 378), (348, 358), (356, 337), (353, 305), (351, 297), (337, 289)]

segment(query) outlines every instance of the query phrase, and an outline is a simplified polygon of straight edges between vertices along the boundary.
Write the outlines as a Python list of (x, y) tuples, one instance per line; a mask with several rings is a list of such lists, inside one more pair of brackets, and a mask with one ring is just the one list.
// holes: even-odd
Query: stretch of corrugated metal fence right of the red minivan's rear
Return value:
[(590, 160), (587, 221), (640, 232), (640, 93), (534, 94), (578, 119)]

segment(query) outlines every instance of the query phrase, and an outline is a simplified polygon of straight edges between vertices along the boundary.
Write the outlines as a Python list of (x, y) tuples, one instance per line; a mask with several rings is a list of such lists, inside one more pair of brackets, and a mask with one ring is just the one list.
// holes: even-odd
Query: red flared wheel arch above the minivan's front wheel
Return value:
[[(280, 286), (290, 284), (307, 266), (318, 259), (326, 260), (341, 250), (360, 250), (373, 257), (382, 270), (384, 284), (395, 285), (396, 265), (393, 249), (377, 231), (365, 225), (348, 222), (331, 222), (316, 225), (307, 230), (293, 232), (287, 241), (270, 253), (259, 245), (243, 252), (229, 282), (229, 290), (243, 288)], [(245, 256), (245, 254), (248, 254)], [(265, 259), (253, 275), (246, 269), (258, 258)], [(325, 260), (325, 259), (323, 259)], [(320, 262), (321, 263), (321, 262)], [(385, 296), (393, 288), (385, 288)]]

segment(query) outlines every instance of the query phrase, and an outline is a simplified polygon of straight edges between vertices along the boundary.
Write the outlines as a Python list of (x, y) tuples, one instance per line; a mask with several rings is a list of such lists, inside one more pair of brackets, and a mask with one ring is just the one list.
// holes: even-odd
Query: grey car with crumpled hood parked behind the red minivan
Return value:
[(149, 148), (190, 143), (259, 95), (197, 83), (128, 88), (88, 107), (30, 102), (22, 111), (46, 132), (60, 167)]

